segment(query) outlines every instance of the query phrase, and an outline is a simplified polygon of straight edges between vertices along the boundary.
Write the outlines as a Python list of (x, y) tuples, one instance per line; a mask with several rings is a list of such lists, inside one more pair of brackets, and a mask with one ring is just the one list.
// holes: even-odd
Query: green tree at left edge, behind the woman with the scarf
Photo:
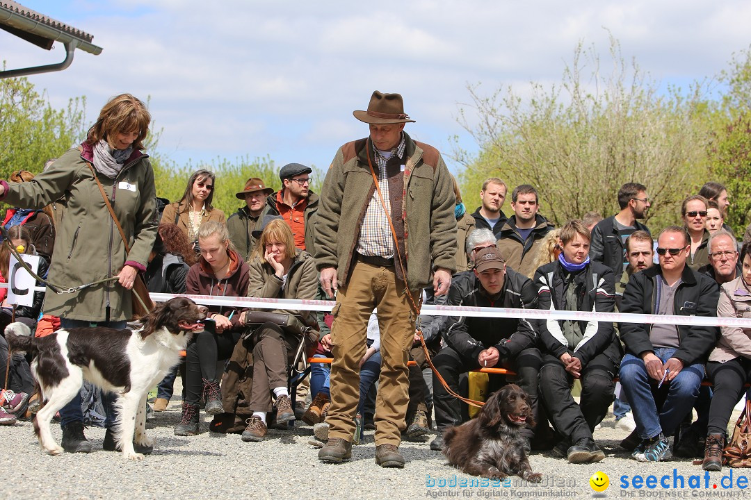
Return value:
[(0, 178), (16, 170), (41, 172), (85, 136), (85, 97), (53, 109), (26, 78), (0, 79)]

